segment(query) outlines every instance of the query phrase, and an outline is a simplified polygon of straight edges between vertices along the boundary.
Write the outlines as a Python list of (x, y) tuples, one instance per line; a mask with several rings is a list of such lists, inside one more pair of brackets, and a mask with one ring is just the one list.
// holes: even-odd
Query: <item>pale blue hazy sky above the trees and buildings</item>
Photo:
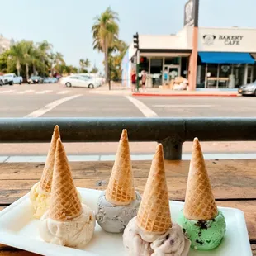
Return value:
[[(90, 59), (102, 70), (103, 55), (92, 49), (93, 18), (107, 7), (119, 13), (120, 39), (139, 34), (174, 34), (183, 27), (187, 0), (0, 0), (0, 34), (14, 40), (48, 40), (78, 66)], [(199, 26), (256, 28), (256, 0), (200, 0)]]

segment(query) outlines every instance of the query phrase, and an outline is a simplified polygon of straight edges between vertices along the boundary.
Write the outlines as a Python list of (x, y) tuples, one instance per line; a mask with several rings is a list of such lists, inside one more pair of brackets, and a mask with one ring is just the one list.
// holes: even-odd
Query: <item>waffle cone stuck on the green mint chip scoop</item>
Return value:
[(184, 216), (189, 220), (211, 220), (218, 215), (199, 140), (195, 138), (187, 179)]

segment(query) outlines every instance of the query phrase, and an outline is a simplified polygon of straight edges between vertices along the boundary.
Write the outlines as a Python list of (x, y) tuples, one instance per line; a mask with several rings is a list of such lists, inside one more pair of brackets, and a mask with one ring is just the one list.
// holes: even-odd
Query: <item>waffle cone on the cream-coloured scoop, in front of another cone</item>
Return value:
[(64, 146), (59, 139), (55, 154), (49, 217), (52, 220), (72, 220), (80, 216), (82, 211), (78, 192), (73, 183), (69, 161)]

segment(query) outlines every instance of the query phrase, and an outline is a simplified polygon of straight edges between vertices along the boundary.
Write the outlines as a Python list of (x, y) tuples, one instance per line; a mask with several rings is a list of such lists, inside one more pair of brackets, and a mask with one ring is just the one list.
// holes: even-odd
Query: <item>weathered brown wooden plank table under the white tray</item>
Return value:
[[(71, 162), (76, 186), (103, 190), (110, 177), (112, 162)], [(133, 161), (135, 186), (143, 192), (150, 161)], [(256, 159), (209, 160), (206, 166), (218, 206), (244, 211), (253, 254), (256, 255)], [(44, 164), (0, 164), (0, 210), (30, 191), (40, 180)], [(165, 161), (169, 198), (183, 201), (189, 161)], [(36, 255), (0, 244), (0, 255)]]

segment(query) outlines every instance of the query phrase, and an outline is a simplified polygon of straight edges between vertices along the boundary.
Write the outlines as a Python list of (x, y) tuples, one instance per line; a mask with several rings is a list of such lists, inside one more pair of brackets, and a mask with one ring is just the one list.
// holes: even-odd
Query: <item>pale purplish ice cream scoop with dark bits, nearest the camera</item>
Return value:
[(123, 242), (130, 256), (187, 256), (190, 240), (182, 228), (173, 223), (164, 234), (148, 233), (130, 220), (123, 235)]

